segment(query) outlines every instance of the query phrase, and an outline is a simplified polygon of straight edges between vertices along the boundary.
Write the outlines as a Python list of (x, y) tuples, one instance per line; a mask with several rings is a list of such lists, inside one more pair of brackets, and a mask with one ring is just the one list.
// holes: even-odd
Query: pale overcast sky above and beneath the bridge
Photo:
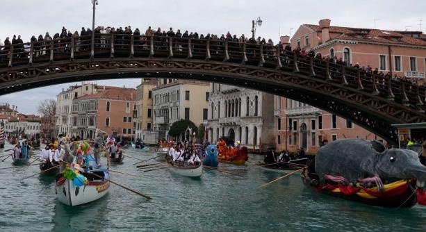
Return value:
[[(92, 27), (91, 0), (1, 0), (0, 40), (22, 35), (24, 42), (31, 35), (60, 33), (62, 26), (74, 31)], [(333, 26), (352, 26), (404, 31), (420, 30), (420, 19), (426, 28), (426, 1), (252, 1), (252, 0), (99, 0), (96, 24), (128, 26), (146, 30), (147, 26), (174, 31), (236, 35), (250, 35), (252, 20), (261, 17), (263, 25), (256, 35), (274, 42), (279, 35), (295, 33), (301, 24), (318, 24), (320, 19), (331, 19)], [(375, 20), (376, 19), (376, 20)], [(375, 23), (376, 22), (376, 23)], [(376, 24), (376, 25), (375, 25)], [(99, 81), (99, 84), (136, 87), (137, 79)], [(56, 98), (69, 84), (53, 85), (3, 95), (0, 102), (19, 106), (22, 113), (36, 113), (37, 103)]]

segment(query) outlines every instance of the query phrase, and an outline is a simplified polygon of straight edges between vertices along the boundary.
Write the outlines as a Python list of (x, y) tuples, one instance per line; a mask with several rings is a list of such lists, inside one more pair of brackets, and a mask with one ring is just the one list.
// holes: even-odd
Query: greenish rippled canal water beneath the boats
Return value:
[[(133, 149), (125, 154), (155, 156)], [(144, 174), (133, 165), (138, 160), (127, 157), (111, 169), (144, 177), (113, 173), (113, 180), (152, 200), (111, 185), (104, 198), (74, 207), (56, 199), (54, 176), (21, 181), (40, 172), (37, 165), (0, 169), (0, 231), (426, 231), (424, 206), (388, 209), (343, 201), (304, 187), (299, 175), (256, 190), (281, 175), (251, 167), (259, 160), (250, 156), (246, 167), (220, 164), (243, 178), (208, 170), (194, 180), (167, 169)], [(10, 158), (0, 162), (0, 168), (11, 165)]]

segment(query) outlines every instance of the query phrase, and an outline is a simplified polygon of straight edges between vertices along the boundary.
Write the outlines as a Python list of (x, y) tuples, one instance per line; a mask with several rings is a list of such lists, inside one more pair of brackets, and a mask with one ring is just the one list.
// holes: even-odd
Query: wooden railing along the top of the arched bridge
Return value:
[(167, 36), (95, 34), (10, 44), (0, 47), (0, 69), (54, 60), (74, 60), (90, 57), (167, 57), (220, 60), (247, 65), (283, 69), (326, 81), (347, 85), (364, 92), (422, 110), (426, 87), (416, 83), (396, 81), (354, 67), (331, 63), (328, 60), (300, 56), (280, 46), (229, 40), (172, 38)]

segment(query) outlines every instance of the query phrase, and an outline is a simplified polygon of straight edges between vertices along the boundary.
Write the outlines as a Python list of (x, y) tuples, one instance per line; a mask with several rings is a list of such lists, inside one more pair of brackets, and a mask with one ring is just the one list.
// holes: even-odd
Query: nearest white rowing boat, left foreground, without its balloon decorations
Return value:
[(67, 206), (78, 206), (104, 197), (110, 188), (109, 172), (95, 169), (93, 173), (103, 178), (94, 176), (92, 172), (82, 173), (88, 179), (88, 183), (81, 187), (74, 185), (72, 180), (60, 177), (56, 181), (58, 200)]

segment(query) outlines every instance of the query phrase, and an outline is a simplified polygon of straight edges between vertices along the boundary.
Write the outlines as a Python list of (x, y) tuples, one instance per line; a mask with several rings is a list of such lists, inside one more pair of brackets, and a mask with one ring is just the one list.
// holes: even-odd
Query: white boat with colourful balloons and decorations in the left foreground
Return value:
[(56, 177), (58, 200), (68, 206), (78, 206), (104, 197), (110, 188), (110, 174), (106, 167), (101, 165), (99, 169), (81, 172), (79, 166), (73, 166)]

